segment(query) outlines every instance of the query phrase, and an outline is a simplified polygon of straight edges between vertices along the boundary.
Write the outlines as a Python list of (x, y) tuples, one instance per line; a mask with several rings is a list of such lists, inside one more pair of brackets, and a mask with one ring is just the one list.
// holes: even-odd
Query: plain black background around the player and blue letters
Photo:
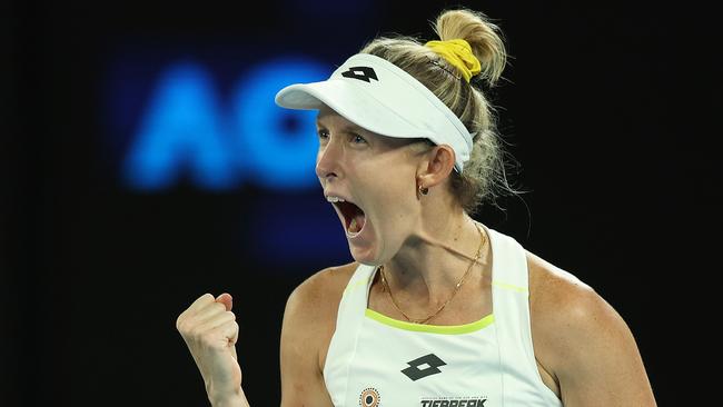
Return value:
[[(129, 189), (122, 140), (108, 141), (108, 75), (147, 58), (139, 78), (152, 78), (181, 53), (226, 83), (275, 52), (340, 63), (377, 33), (432, 39), (427, 21), (457, 4), (3, 3), (0, 405), (207, 405), (175, 328), (207, 291), (234, 294), (251, 405), (277, 405), (286, 297), (348, 252), (333, 229), (336, 246), (311, 248), (320, 256), (269, 266), (254, 257), (248, 220), (273, 206), (269, 221), (307, 210), (336, 221), (331, 209), (320, 189)], [(529, 190), (475, 218), (593, 286), (628, 322), (658, 404), (690, 405), (717, 324), (707, 289), (721, 270), (720, 23), (693, 2), (464, 4), (506, 36), (513, 58), (493, 101)], [(303, 244), (279, 242), (277, 258)]]

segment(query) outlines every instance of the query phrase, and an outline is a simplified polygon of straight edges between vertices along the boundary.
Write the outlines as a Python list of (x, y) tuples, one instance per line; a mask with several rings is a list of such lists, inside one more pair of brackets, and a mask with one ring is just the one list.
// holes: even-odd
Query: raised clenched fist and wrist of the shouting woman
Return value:
[(214, 406), (246, 400), (241, 390), (241, 368), (236, 360), (238, 324), (231, 307), (230, 295), (215, 298), (205, 294), (176, 320), (176, 328), (194, 356)]

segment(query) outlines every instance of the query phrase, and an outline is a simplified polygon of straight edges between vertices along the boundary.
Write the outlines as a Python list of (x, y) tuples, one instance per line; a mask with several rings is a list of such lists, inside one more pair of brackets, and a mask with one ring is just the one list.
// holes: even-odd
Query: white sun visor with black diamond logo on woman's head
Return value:
[(305, 110), (326, 105), (382, 136), (448, 145), (455, 151), (459, 173), (469, 160), (472, 136), (459, 118), (409, 73), (373, 54), (351, 56), (325, 81), (281, 89), (276, 93), (276, 105)]

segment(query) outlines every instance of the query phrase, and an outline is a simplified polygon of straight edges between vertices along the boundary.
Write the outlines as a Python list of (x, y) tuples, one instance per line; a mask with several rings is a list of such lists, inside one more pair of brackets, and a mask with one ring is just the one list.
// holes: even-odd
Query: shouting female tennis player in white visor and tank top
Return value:
[[(472, 10), (434, 28), (428, 42), (378, 37), (276, 96), (318, 110), (316, 173), (355, 260), (289, 296), (281, 406), (655, 406), (615, 309), (471, 217), (512, 190), (484, 93), (505, 47)], [(249, 405), (235, 319), (229, 294), (177, 319), (214, 406)]]

